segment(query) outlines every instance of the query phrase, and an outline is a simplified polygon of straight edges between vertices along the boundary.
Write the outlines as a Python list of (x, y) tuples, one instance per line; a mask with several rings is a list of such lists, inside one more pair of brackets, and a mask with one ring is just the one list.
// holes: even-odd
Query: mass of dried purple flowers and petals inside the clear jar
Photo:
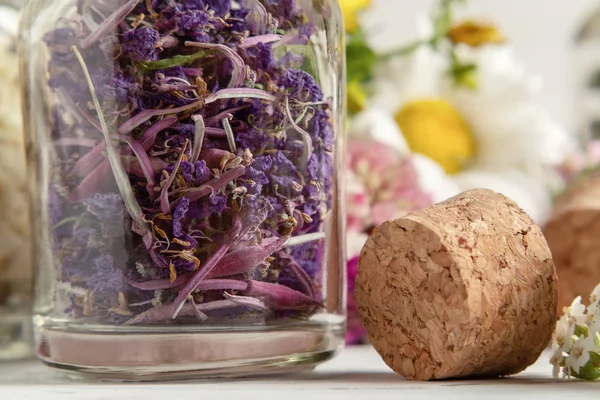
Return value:
[(44, 38), (58, 99), (53, 242), (61, 278), (93, 293), (86, 317), (317, 312), (331, 113), (304, 56), (273, 51), (306, 43), (310, 16), (292, 0), (109, 3), (94, 0), (105, 21)]

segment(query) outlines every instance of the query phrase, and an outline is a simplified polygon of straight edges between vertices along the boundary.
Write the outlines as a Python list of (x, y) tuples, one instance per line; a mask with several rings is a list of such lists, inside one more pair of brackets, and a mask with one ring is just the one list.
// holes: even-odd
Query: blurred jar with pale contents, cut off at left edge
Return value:
[(16, 51), (20, 6), (0, 1), (0, 360), (33, 354), (31, 245)]

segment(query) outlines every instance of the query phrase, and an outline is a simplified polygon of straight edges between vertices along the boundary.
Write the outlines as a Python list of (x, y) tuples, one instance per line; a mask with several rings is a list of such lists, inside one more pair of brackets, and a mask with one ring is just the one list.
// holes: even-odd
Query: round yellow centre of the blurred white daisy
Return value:
[(442, 99), (408, 103), (396, 116), (411, 150), (424, 154), (447, 173), (460, 172), (475, 155), (476, 143), (463, 116)]

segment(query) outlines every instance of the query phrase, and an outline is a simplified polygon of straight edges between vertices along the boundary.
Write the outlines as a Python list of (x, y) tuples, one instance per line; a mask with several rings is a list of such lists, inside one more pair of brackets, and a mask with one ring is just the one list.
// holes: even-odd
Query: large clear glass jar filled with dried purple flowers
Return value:
[(314, 367), (344, 341), (335, 0), (33, 0), (38, 356), (102, 378)]

